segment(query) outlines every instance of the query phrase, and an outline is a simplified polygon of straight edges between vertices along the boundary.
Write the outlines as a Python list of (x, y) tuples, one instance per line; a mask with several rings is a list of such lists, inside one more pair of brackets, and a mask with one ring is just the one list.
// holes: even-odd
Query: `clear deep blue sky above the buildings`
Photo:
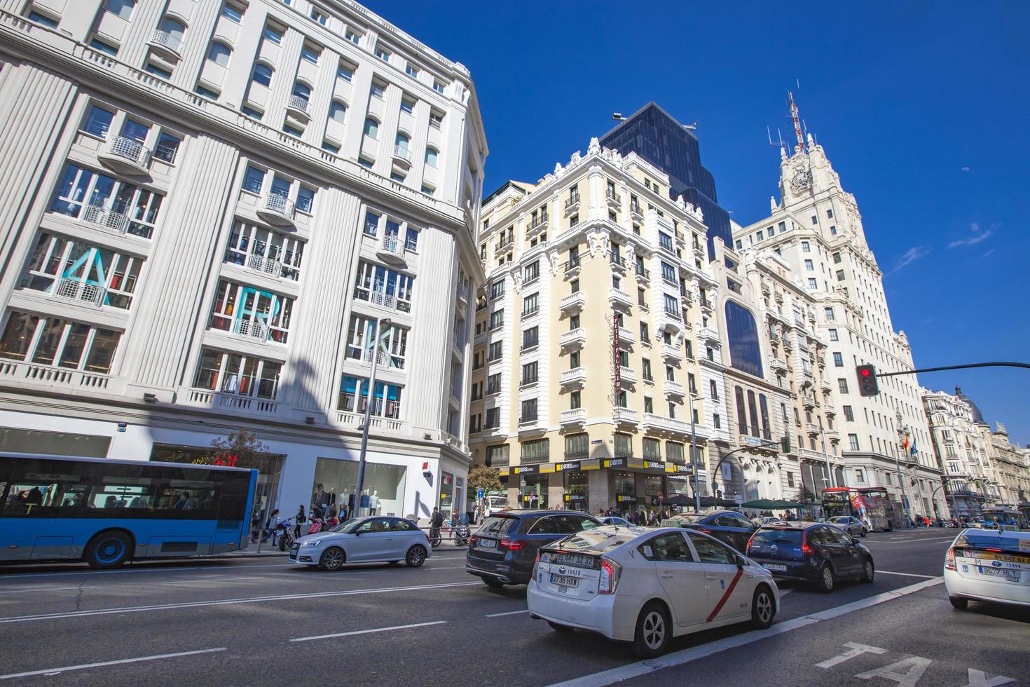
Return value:
[[(747, 225), (778, 193), (765, 128), (791, 134), (794, 91), (858, 200), (917, 367), (1030, 362), (1030, 3), (365, 4), (472, 71), (487, 193), (535, 181), (612, 112), (654, 100), (700, 121), (720, 204)], [(920, 381), (961, 384), (1030, 443), (1030, 370)]]

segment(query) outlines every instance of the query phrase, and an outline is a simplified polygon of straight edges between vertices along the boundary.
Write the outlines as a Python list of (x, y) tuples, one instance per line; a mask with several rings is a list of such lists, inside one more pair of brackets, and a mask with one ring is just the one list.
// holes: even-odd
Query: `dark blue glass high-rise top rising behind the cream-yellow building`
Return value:
[(605, 134), (600, 144), (622, 154), (636, 152), (668, 174), (668, 195), (674, 199), (683, 196), (683, 200), (693, 203), (705, 213), (705, 224), (709, 228), (709, 257), (715, 256), (714, 236), (732, 247), (729, 213), (719, 206), (715, 179), (701, 165), (697, 138), (668, 112), (650, 102)]

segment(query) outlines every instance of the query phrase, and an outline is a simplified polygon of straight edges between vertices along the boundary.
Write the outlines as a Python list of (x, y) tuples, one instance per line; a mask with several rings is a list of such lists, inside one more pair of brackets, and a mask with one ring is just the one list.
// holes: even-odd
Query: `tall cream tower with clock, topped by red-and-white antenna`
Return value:
[[(866, 243), (855, 197), (844, 191), (811, 135), (793, 154), (781, 150), (780, 197), (771, 199), (767, 217), (734, 229), (734, 244), (778, 252), (816, 300), (818, 338), (827, 344), (825, 401), (838, 410), (845, 485), (886, 487), (896, 515), (905, 510), (904, 496), (909, 514), (932, 516), (930, 485), (940, 483), (940, 471), (916, 375), (881, 378), (876, 397), (858, 392), (856, 366), (913, 370), (912, 349), (904, 333), (893, 329), (883, 272)], [(902, 448), (904, 437), (908, 450)], [(943, 508), (939, 491), (935, 504)]]

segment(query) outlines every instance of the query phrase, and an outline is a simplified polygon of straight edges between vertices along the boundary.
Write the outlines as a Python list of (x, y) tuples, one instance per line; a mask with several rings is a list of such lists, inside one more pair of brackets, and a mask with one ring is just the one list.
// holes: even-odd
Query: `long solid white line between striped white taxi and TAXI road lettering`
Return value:
[(614, 685), (615, 683), (622, 682), (623, 680), (629, 680), (631, 678), (637, 678), (666, 667), (683, 665), (684, 663), (689, 663), (691, 661), (711, 656), (712, 654), (717, 654), (720, 651), (743, 647), (745, 645), (764, 640), (768, 637), (776, 637), (777, 634), (790, 632), (799, 627), (812, 625), (823, 620), (829, 620), (830, 618), (835, 618), (854, 611), (860, 611), (862, 609), (869, 608), (870, 606), (876, 606), (878, 604), (883, 604), (884, 602), (898, 598), (899, 596), (904, 596), (905, 594), (921, 591), (927, 587), (942, 584), (943, 581), (943, 578), (934, 578), (932, 580), (926, 580), (925, 582), (918, 582), (907, 587), (901, 587), (900, 589), (894, 589), (893, 591), (876, 594), (874, 596), (852, 602), (851, 604), (845, 604), (844, 606), (838, 606), (836, 608), (827, 609), (826, 611), (786, 620), (772, 625), (768, 629), (756, 629), (750, 632), (744, 632), (743, 634), (736, 634), (735, 637), (727, 637), (726, 639), (710, 642), (709, 644), (703, 644), (697, 647), (691, 647), (690, 649), (675, 651), (671, 654), (659, 656), (658, 658), (639, 661), (637, 663), (622, 665), (610, 671), (602, 671), (600, 673), (586, 675), (582, 678), (575, 678), (573, 680), (566, 680), (565, 682), (555, 683), (554, 685), (551, 685), (551, 687), (600, 687), (602, 685)]

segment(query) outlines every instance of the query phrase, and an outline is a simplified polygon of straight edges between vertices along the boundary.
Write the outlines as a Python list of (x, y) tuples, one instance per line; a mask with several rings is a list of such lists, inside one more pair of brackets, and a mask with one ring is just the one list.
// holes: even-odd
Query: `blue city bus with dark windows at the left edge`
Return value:
[(256, 483), (256, 470), (0, 453), (0, 562), (238, 551)]

